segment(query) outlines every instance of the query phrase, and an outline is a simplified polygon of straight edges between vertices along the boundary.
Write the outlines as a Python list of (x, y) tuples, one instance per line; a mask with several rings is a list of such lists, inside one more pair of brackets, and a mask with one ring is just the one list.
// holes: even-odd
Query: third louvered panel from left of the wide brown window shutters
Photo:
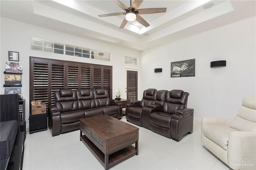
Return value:
[(79, 69), (78, 64), (67, 63), (68, 89), (76, 90), (79, 87)]

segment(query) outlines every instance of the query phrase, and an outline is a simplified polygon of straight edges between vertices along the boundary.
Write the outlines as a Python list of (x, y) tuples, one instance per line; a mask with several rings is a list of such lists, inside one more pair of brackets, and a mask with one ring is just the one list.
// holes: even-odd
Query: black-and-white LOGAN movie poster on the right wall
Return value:
[(195, 59), (171, 62), (171, 77), (195, 76)]

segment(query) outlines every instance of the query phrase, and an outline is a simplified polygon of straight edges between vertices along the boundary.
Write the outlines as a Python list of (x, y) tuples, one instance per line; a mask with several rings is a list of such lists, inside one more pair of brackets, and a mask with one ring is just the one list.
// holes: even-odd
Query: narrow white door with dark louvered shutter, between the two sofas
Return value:
[(126, 71), (126, 93), (130, 101), (138, 100), (138, 71)]

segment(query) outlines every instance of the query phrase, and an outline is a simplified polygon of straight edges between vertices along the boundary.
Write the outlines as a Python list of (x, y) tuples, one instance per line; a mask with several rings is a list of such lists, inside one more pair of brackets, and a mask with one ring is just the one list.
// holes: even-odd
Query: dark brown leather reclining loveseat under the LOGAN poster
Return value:
[(193, 132), (194, 109), (187, 107), (189, 93), (147, 89), (141, 101), (126, 105), (127, 121), (173, 140)]

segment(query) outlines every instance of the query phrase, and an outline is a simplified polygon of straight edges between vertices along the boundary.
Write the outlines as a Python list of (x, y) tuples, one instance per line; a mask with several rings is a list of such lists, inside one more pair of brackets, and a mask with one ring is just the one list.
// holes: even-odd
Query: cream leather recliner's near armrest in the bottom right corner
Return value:
[(228, 166), (232, 169), (256, 169), (255, 143), (255, 132), (230, 132), (228, 138)]

